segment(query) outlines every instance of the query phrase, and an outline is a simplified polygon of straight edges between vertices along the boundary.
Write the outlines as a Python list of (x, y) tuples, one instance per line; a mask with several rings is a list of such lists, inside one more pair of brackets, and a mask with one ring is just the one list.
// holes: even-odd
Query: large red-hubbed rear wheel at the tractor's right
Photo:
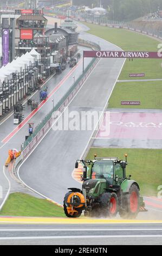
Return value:
[(123, 198), (125, 210), (120, 210), (119, 215), (122, 218), (136, 218), (139, 213), (139, 188), (133, 184), (129, 193)]

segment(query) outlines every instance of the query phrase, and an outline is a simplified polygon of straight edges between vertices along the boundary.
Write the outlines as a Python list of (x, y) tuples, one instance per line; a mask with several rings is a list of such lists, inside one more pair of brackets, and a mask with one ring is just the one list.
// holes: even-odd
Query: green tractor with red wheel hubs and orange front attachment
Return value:
[[(82, 190), (70, 190), (64, 197), (64, 213), (67, 217), (80, 217), (84, 210), (89, 217), (135, 218), (139, 211), (147, 211), (139, 194), (137, 181), (127, 178), (126, 160), (118, 157), (94, 157), (94, 160), (77, 160), (83, 164)], [(88, 168), (88, 166), (90, 168)]]

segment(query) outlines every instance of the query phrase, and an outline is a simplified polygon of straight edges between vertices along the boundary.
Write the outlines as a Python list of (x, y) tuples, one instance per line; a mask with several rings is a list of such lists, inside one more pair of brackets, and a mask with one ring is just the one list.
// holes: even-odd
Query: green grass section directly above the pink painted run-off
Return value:
[[(108, 108), (162, 109), (162, 81), (116, 83)], [(121, 101), (140, 101), (140, 105), (121, 105)]]

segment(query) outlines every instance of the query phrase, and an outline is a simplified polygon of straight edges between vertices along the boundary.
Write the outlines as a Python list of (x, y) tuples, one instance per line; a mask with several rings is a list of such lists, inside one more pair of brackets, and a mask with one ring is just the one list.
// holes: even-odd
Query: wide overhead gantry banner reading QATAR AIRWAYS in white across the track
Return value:
[(83, 57), (86, 57), (86, 58), (161, 59), (162, 52), (83, 51)]

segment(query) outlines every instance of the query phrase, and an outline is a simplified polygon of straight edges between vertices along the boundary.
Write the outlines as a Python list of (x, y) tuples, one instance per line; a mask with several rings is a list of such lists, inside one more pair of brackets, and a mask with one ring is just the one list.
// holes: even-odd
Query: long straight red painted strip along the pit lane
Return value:
[(82, 60), (80, 60), (77, 65), (74, 66), (74, 68), (72, 70), (70, 70), (70, 72), (64, 76), (64, 78), (61, 80), (61, 82), (59, 84), (57, 84), (57, 86), (51, 91), (51, 93), (49, 93), (48, 97), (46, 100), (43, 100), (40, 105), (34, 109), (33, 112), (31, 112), (28, 117), (26, 117), (22, 123), (20, 125), (18, 125), (7, 137), (5, 137), (2, 141), (2, 143), (7, 143), (25, 124), (28, 123), (28, 121), (39, 111), (39, 109), (50, 99), (51, 96), (53, 96), (53, 94), (56, 92), (56, 90), (58, 90), (63, 83), (69, 78), (70, 75), (72, 75), (72, 73), (75, 71), (75, 69), (77, 68), (77, 66), (80, 64)]

